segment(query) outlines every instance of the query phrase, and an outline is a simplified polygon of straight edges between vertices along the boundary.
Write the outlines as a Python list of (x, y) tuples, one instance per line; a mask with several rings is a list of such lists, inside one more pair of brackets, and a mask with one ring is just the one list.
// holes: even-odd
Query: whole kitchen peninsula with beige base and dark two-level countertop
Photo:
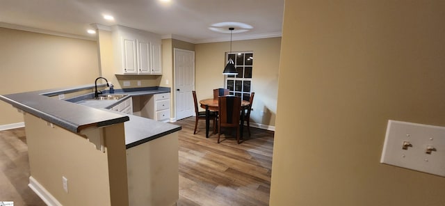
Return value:
[[(94, 87), (0, 95), (24, 114), (29, 187), (47, 205), (175, 205), (181, 127), (57, 98)], [(127, 95), (148, 93), (165, 90)]]

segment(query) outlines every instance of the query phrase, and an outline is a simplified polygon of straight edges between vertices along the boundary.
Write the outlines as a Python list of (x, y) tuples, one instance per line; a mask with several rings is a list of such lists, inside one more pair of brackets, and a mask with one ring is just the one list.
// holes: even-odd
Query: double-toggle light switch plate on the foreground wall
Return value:
[(380, 162), (445, 177), (445, 127), (389, 120)]

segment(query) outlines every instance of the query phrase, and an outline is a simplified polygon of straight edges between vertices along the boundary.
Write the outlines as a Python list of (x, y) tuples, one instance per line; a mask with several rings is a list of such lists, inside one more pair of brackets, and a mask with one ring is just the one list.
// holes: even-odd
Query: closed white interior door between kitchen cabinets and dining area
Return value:
[(192, 90), (195, 89), (195, 52), (175, 48), (175, 111), (176, 119), (193, 116)]

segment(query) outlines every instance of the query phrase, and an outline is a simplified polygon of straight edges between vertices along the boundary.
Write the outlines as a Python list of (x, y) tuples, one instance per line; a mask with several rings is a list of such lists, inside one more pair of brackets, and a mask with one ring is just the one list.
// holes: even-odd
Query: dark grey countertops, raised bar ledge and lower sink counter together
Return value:
[[(109, 104), (105, 107), (97, 106), (95, 108), (95, 106), (76, 104), (75, 102), (70, 101), (75, 100), (75, 98), (63, 101), (47, 97), (89, 88), (94, 88), (94, 84), (54, 90), (0, 95), (0, 100), (74, 133), (79, 133), (82, 129), (87, 127), (105, 127), (125, 122), (125, 144), (127, 148), (151, 141), (152, 139), (159, 138), (165, 134), (177, 132), (181, 129), (181, 127), (177, 125), (107, 110), (107, 108), (111, 108), (125, 100), (125, 98), (120, 100), (91, 101), (104, 102), (104, 104), (107, 102), (106, 104)], [(170, 88), (154, 87), (145, 88), (145, 90), (144, 88), (116, 90), (115, 94), (127, 94), (132, 96), (168, 92), (170, 92)]]

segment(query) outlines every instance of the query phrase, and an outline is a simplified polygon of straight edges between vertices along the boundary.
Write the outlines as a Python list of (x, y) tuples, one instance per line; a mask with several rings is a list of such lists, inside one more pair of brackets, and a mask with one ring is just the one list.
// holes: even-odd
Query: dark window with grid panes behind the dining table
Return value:
[(227, 75), (225, 88), (229, 89), (230, 95), (242, 97), (243, 100), (249, 101), (250, 87), (252, 86), (253, 52), (237, 52), (227, 54), (226, 57), (227, 61), (232, 58), (238, 74)]

